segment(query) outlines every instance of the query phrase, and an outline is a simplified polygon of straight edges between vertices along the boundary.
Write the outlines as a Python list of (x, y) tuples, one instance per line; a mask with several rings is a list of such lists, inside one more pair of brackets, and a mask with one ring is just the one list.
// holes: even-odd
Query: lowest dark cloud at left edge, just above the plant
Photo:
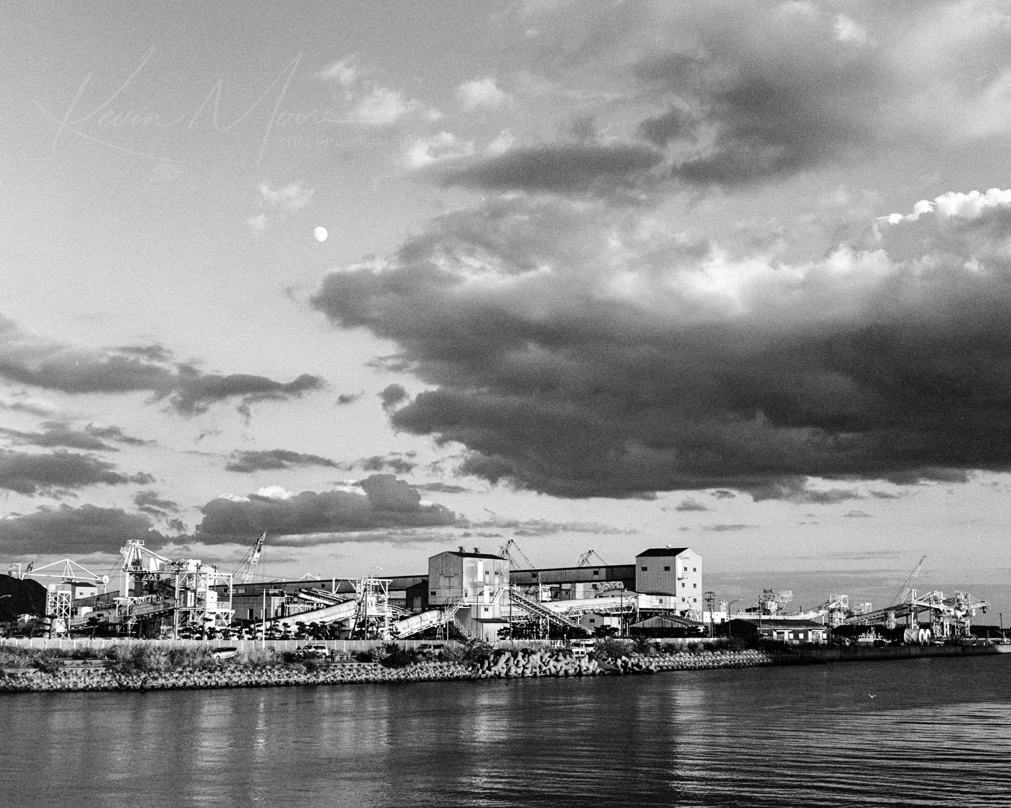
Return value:
[(151, 529), (145, 516), (94, 505), (41, 507), (0, 519), (0, 546), (14, 557), (114, 554), (129, 539), (159, 546), (165, 537)]

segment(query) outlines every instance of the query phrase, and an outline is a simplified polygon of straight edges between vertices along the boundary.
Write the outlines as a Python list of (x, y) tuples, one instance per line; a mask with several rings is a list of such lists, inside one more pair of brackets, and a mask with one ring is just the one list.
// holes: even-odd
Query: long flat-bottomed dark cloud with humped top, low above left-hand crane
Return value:
[(201, 508), (196, 540), (246, 540), (264, 530), (274, 535), (332, 534), (315, 543), (343, 540), (340, 534), (385, 528), (435, 527), (460, 523), (442, 505), (426, 505), (411, 486), (393, 475), (372, 475), (357, 491), (304, 491), (287, 499), (255, 494), (246, 500), (214, 499)]

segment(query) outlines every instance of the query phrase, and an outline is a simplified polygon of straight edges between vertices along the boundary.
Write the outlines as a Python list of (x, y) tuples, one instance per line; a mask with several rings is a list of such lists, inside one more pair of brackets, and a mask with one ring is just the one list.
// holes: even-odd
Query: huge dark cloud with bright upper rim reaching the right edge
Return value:
[(398, 343), (431, 389), (392, 425), (466, 446), (461, 474), (830, 504), (860, 495), (804, 478), (1011, 470), (1011, 195), (931, 204), (789, 267), (637, 241), (604, 207), (496, 201), (313, 302)]

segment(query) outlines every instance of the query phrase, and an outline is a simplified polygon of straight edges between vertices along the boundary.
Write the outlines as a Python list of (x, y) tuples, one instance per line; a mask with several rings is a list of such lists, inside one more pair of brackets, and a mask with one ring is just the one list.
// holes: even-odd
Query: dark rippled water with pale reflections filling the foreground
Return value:
[(1011, 654), (0, 695), (0, 804), (11, 808), (1004, 808)]

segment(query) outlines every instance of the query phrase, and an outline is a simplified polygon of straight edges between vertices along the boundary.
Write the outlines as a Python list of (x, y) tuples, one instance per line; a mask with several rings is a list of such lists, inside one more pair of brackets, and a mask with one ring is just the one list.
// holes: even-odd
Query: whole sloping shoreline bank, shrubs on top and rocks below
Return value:
[(739, 643), (664, 649), (614, 639), (582, 658), (567, 648), (471, 643), (426, 652), (390, 642), (326, 659), (299, 659), (270, 647), (221, 659), (210, 647), (166, 646), (153, 640), (73, 651), (2, 646), (0, 693), (569, 678), (799, 664), (817, 661), (803, 652), (743, 648)]

